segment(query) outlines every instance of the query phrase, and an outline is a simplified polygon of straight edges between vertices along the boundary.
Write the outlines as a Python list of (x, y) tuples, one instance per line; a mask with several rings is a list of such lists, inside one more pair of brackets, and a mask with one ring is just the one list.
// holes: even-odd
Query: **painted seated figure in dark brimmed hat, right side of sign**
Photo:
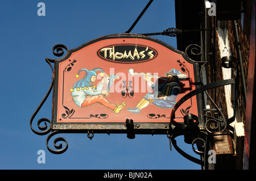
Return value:
[(160, 83), (160, 79), (154, 83), (151, 81), (152, 75), (145, 74), (143, 78), (146, 79), (148, 86), (152, 88), (153, 92), (148, 92), (134, 108), (127, 108), (127, 110), (132, 113), (140, 113), (149, 104), (163, 109), (173, 108), (176, 104), (176, 98), (181, 91), (179, 86), (180, 80), (187, 79), (187, 75), (181, 74), (176, 69), (171, 69), (165, 75), (166, 81), (164, 83)]

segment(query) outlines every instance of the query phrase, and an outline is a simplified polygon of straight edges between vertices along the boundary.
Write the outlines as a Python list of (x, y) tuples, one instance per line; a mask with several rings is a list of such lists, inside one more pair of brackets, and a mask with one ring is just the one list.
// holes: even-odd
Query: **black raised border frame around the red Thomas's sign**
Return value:
[[(61, 130), (61, 131), (72, 131), (76, 130), (76, 132), (84, 132), (84, 131), (94, 131), (94, 133), (127, 133), (126, 129), (126, 119), (127, 117), (123, 118), (123, 122), (106, 122), (106, 123), (57, 123), (56, 117), (57, 117), (57, 94), (58, 92), (58, 80), (59, 80), (59, 64), (63, 61), (68, 60), (69, 57), (71, 57), (72, 53), (77, 52), (78, 50), (85, 48), (91, 44), (94, 44), (101, 40), (108, 40), (108, 39), (129, 39), (129, 38), (138, 38), (138, 39), (146, 39), (150, 41), (154, 41), (154, 43), (158, 43), (162, 45), (163, 47), (166, 47), (170, 49), (172, 52), (181, 54), (181, 56), (184, 58), (185, 61), (189, 62), (193, 65), (193, 71), (195, 74), (195, 87), (196, 89), (200, 87), (200, 68), (199, 68), (199, 62), (193, 61), (190, 58), (186, 56), (184, 52), (181, 52), (173, 47), (171, 45), (168, 45), (164, 43), (163, 41), (160, 41), (158, 39), (154, 39), (149, 36), (139, 35), (139, 34), (114, 34), (114, 35), (107, 35), (102, 36), (97, 39), (94, 39), (92, 41), (89, 41), (88, 43), (82, 44), (80, 47), (77, 47), (75, 49), (71, 49), (68, 51), (68, 53), (59, 60), (55, 60), (55, 66), (54, 66), (54, 77), (53, 77), (53, 107), (52, 107), (52, 130)], [(137, 62), (139, 63), (139, 62)], [(199, 127), (204, 127), (203, 124), (203, 96), (201, 94), (196, 95), (197, 100), (197, 114), (199, 116)], [(170, 111), (171, 114), (171, 111)], [(171, 117), (171, 116), (170, 116)], [(136, 120), (134, 120), (136, 121)], [(169, 130), (170, 124), (167, 123), (138, 123), (136, 122), (135, 125), (135, 133), (136, 134), (166, 134), (166, 132)]]

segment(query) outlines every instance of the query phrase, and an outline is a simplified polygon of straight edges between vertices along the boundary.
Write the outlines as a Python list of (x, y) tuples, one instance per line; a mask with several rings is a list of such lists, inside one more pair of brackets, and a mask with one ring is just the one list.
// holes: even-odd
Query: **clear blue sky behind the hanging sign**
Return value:
[[(46, 16), (38, 16), (39, 2)], [(201, 169), (199, 165), (170, 151), (166, 135), (60, 134), (68, 150), (49, 153), (45, 136), (30, 129), (30, 117), (51, 83), (51, 68), (45, 58), (56, 57), (52, 47), (79, 47), (97, 37), (124, 33), (144, 9), (148, 0), (114, 1), (3, 1), (0, 5), (1, 124), (0, 169)], [(155, 0), (131, 33), (162, 32), (175, 26), (174, 1)], [(176, 48), (176, 38), (154, 36)], [(36, 115), (51, 119), (52, 94)], [(34, 123), (34, 124), (35, 124)], [(36, 127), (36, 126), (35, 126)], [(51, 141), (50, 141), (51, 142)], [(180, 148), (193, 153), (191, 145), (178, 137)], [(46, 152), (39, 164), (38, 150)]]

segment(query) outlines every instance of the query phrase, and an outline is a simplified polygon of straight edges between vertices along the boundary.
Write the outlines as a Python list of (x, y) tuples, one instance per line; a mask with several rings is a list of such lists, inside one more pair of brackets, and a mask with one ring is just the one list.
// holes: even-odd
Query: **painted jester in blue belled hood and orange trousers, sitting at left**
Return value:
[(94, 68), (92, 70), (80, 69), (76, 77), (79, 77), (79, 73), (81, 71), (85, 71), (85, 77), (77, 81), (71, 89), (71, 96), (75, 104), (81, 108), (84, 108), (98, 103), (106, 108), (109, 108), (114, 113), (119, 113), (125, 106), (125, 103), (122, 103), (121, 105), (112, 104), (106, 98), (104, 98), (104, 96), (109, 96), (108, 91), (102, 90), (104, 84), (109, 83), (108, 78), (103, 78), (101, 82), (98, 83), (97, 87), (93, 85), (93, 83), (96, 82), (96, 71), (101, 71), (103, 73), (103, 70), (100, 68)]

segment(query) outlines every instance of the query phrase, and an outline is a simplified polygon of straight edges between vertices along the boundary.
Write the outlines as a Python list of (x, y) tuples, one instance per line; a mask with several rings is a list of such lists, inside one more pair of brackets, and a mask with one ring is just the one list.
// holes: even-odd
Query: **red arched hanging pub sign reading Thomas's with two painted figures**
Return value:
[[(137, 133), (166, 133), (172, 108), (200, 82), (197, 62), (184, 52), (135, 34), (100, 37), (54, 62), (53, 131), (126, 133), (128, 119)], [(200, 112), (193, 96), (175, 121)]]

